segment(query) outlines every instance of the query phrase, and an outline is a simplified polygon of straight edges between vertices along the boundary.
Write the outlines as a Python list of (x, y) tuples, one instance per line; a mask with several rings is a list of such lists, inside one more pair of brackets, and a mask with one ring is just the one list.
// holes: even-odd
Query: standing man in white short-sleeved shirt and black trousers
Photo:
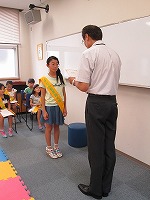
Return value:
[(89, 185), (79, 184), (78, 188), (85, 195), (101, 199), (111, 191), (116, 161), (116, 94), (121, 61), (118, 54), (102, 42), (99, 27), (85, 26), (82, 37), (87, 50), (82, 54), (76, 79), (70, 77), (69, 81), (88, 93), (85, 120), (91, 177)]

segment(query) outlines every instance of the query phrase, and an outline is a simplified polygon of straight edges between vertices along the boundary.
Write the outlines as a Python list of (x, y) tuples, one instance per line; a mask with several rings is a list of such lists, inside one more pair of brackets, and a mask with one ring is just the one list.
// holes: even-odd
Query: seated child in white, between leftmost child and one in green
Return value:
[[(12, 81), (7, 81), (6, 82), (6, 88), (5, 88), (5, 93), (6, 95), (9, 95), (10, 97), (10, 104), (11, 104), (11, 109), (17, 113), (17, 100), (16, 100), (16, 95), (17, 95), (17, 90), (13, 88), (13, 82)], [(14, 102), (16, 101), (16, 102)]]

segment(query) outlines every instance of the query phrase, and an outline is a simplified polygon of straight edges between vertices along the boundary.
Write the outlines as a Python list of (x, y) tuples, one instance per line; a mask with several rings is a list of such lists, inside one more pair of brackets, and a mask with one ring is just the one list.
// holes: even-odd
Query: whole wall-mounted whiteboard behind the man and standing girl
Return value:
[[(103, 42), (114, 49), (122, 61), (120, 84), (150, 87), (150, 17), (101, 27)], [(77, 69), (82, 52), (81, 33), (47, 42), (47, 56), (56, 55), (60, 68)]]

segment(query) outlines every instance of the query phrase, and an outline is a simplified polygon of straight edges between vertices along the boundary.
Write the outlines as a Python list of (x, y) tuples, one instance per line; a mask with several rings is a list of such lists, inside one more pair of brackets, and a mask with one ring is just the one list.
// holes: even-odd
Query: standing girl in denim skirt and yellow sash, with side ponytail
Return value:
[[(47, 59), (49, 73), (40, 78), (42, 121), (45, 123), (46, 153), (51, 158), (62, 157), (59, 149), (59, 125), (64, 124), (66, 110), (66, 92), (63, 76), (59, 69), (59, 60), (55, 56)], [(54, 147), (51, 144), (51, 132), (54, 128)]]

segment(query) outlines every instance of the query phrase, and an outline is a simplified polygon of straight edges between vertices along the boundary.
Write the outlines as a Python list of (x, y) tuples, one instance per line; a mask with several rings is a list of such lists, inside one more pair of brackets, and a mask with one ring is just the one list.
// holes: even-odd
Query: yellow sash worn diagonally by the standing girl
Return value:
[(61, 112), (63, 113), (64, 111), (64, 102), (60, 96), (60, 94), (57, 92), (55, 87), (52, 85), (52, 83), (46, 78), (42, 77), (39, 79), (39, 82), (42, 82), (43, 85), (47, 88), (51, 96), (54, 98), (54, 100), (57, 102)]

